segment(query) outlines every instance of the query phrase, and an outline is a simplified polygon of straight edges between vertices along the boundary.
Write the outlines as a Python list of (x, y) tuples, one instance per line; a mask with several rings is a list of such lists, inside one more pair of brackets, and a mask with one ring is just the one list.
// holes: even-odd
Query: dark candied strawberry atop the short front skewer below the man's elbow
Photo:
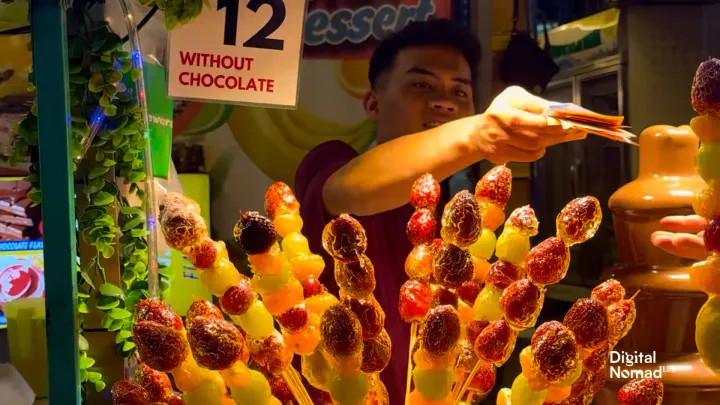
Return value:
[(320, 320), (325, 350), (334, 357), (350, 357), (362, 351), (362, 326), (357, 316), (342, 304), (330, 306)]

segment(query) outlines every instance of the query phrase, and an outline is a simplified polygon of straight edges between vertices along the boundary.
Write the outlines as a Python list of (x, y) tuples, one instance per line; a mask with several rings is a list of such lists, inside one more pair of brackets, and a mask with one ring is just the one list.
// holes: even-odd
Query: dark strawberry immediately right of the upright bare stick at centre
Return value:
[(443, 305), (433, 308), (420, 332), (421, 346), (430, 355), (445, 355), (457, 345), (460, 332), (460, 317), (453, 307)]

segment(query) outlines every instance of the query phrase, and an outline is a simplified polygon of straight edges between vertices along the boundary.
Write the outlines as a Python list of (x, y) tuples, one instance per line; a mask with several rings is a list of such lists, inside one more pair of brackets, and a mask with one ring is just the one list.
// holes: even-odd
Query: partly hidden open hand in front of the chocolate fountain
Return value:
[(660, 220), (667, 231), (657, 231), (650, 236), (653, 245), (675, 256), (693, 260), (707, 257), (703, 232), (707, 221), (698, 215), (672, 216)]

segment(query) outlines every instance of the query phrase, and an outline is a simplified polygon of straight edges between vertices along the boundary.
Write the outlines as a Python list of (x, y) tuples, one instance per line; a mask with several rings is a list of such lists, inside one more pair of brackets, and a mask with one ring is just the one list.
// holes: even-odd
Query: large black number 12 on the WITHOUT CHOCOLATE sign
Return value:
[[(272, 49), (282, 51), (285, 41), (269, 38), (285, 22), (286, 10), (283, 0), (250, 0), (247, 8), (257, 13), (260, 7), (272, 7), (272, 14), (265, 25), (243, 43), (247, 48)], [(225, 9), (225, 45), (235, 46), (237, 42), (237, 25), (240, 13), (240, 0), (218, 0), (218, 11)]]

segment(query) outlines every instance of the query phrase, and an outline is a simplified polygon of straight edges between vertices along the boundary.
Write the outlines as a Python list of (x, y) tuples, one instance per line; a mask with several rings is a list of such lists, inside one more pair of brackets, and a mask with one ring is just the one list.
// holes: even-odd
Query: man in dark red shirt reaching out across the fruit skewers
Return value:
[[(393, 405), (403, 402), (406, 381), (410, 328), (397, 307), (412, 248), (405, 229), (413, 212), (408, 204), (413, 182), (428, 172), (442, 181), (483, 159), (532, 162), (547, 146), (569, 140), (539, 115), (547, 102), (520, 88), (506, 90), (476, 115), (473, 82), (479, 60), (476, 39), (448, 20), (412, 23), (389, 36), (370, 60), (371, 91), (364, 100), (378, 146), (359, 155), (340, 141), (327, 142), (313, 149), (296, 173), (312, 251), (323, 252), (322, 230), (334, 216), (352, 214), (365, 228), (375, 297), (393, 343), (392, 360), (382, 373)], [(337, 293), (332, 260), (324, 257), (322, 281)]]

